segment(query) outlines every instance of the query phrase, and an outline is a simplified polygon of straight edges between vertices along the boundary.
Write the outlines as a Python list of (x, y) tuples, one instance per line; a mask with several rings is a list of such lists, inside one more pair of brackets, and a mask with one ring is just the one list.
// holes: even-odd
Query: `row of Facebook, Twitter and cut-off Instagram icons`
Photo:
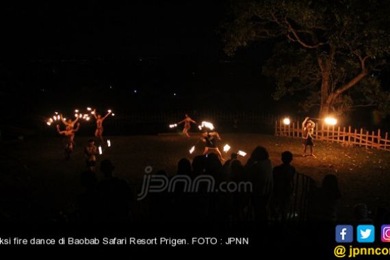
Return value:
[[(337, 225), (335, 235), (337, 243), (351, 243), (354, 241), (354, 227), (352, 225)], [(375, 241), (375, 226), (357, 226), (356, 240), (359, 243), (373, 243)], [(390, 242), (390, 225), (380, 227), (380, 240)]]

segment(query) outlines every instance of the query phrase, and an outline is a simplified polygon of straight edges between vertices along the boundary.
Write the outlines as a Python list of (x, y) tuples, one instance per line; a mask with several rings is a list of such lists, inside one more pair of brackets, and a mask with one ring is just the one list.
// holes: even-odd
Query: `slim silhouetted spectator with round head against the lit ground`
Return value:
[(274, 190), (271, 199), (271, 212), (274, 220), (286, 220), (294, 187), (295, 168), (291, 166), (292, 153), (282, 153), (283, 164), (274, 168)]

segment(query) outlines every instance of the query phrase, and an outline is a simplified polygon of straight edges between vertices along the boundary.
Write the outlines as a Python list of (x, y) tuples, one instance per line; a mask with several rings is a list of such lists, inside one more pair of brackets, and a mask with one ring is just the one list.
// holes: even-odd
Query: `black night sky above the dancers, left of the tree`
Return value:
[(294, 97), (275, 102), (261, 75), (272, 42), (224, 53), (225, 1), (1, 5), (3, 108), (298, 110)]

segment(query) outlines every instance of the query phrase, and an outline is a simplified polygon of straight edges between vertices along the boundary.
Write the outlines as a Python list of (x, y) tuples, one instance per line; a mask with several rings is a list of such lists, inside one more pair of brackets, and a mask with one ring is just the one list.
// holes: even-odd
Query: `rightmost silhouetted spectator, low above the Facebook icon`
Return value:
[(308, 220), (313, 222), (336, 222), (337, 207), (341, 198), (339, 181), (336, 175), (326, 175), (322, 180), (322, 187), (310, 192), (308, 197)]

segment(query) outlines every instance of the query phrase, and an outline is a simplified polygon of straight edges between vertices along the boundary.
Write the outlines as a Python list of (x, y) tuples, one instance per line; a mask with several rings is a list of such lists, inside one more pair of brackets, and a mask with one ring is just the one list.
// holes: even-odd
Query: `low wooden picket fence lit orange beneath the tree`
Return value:
[[(297, 121), (285, 125), (282, 120), (276, 120), (275, 135), (302, 138), (302, 124)], [(382, 135), (380, 129), (370, 132), (363, 130), (363, 128), (358, 130), (356, 128), (352, 129), (351, 126), (340, 127), (317, 123), (315, 125), (313, 138), (326, 142), (338, 142), (390, 151), (389, 135), (387, 132), (385, 135)]]

